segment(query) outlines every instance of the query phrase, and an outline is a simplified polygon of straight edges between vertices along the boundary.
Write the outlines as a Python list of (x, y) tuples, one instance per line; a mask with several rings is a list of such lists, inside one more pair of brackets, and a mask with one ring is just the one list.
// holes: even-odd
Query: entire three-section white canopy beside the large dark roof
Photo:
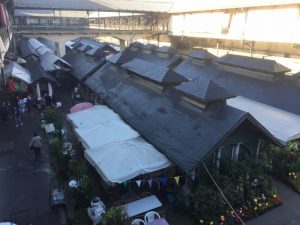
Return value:
[(85, 158), (107, 182), (122, 183), (166, 168), (169, 160), (103, 105), (68, 115), (87, 149)]

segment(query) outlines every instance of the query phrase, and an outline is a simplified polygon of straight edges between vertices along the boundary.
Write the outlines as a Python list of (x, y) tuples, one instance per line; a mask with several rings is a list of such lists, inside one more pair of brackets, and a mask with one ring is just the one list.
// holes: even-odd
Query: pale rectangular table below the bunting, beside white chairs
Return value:
[(126, 209), (127, 216), (132, 217), (158, 208), (161, 205), (161, 202), (155, 195), (150, 195), (148, 197), (129, 202), (123, 205), (123, 207)]

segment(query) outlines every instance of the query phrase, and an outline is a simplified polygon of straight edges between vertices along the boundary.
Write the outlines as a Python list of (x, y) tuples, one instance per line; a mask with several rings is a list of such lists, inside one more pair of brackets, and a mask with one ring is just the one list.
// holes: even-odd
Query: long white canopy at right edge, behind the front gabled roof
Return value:
[(228, 99), (227, 104), (249, 112), (274, 137), (283, 143), (300, 138), (300, 116), (296, 114), (242, 96)]

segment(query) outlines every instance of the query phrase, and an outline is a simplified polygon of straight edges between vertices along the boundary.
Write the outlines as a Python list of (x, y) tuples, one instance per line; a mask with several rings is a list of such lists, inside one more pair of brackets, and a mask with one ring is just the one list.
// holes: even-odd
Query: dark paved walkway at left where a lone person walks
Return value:
[(50, 179), (54, 176), (47, 149), (34, 159), (28, 148), (34, 131), (43, 134), (39, 115), (26, 115), (24, 125), (14, 120), (0, 123), (0, 222), (14, 220), (18, 225), (63, 224), (62, 210), (49, 204)]

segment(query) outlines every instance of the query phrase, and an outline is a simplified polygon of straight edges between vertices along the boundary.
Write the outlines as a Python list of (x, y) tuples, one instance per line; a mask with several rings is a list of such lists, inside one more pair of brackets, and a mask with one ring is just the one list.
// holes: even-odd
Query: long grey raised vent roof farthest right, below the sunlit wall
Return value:
[(286, 73), (291, 71), (289, 68), (277, 63), (275, 60), (259, 59), (248, 56), (227, 54), (219, 59), (216, 59), (215, 61), (220, 64), (226, 64), (271, 74)]

